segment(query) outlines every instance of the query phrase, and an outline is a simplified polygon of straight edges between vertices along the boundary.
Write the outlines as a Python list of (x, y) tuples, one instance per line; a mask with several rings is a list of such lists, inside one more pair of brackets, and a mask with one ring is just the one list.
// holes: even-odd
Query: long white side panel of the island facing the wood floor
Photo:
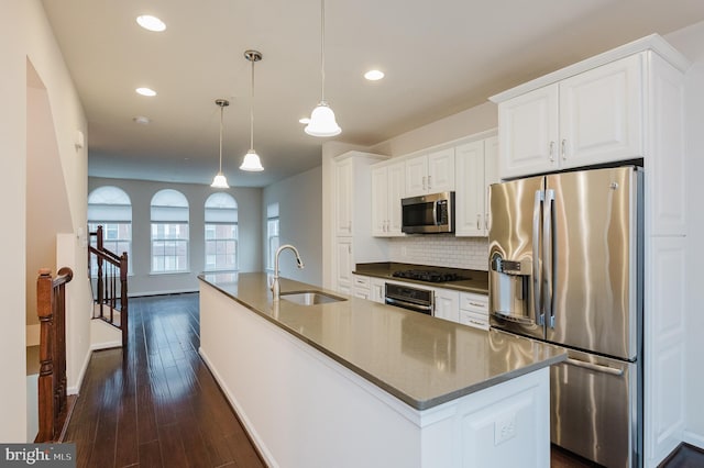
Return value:
[(308, 345), (205, 283), (200, 343), (272, 467), (420, 467), (415, 424), (311, 359), (318, 352), (304, 352)]

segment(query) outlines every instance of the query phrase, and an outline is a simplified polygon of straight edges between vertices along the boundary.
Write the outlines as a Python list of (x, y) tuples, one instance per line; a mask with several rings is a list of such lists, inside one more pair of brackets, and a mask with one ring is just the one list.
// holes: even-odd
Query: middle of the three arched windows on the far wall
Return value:
[(188, 200), (177, 190), (152, 198), (152, 272), (188, 271)]

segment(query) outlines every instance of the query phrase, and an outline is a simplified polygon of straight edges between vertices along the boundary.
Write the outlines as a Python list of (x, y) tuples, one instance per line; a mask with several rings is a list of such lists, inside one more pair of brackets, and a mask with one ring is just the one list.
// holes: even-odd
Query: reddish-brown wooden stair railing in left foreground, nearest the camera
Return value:
[(38, 433), (34, 442), (61, 437), (66, 420), (66, 283), (74, 272), (64, 267), (52, 278), (42, 268), (36, 279), (40, 319)]

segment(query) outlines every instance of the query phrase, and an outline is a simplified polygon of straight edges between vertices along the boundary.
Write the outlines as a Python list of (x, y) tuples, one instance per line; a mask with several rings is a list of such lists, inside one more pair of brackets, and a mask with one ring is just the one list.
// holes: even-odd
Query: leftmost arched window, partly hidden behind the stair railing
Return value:
[[(102, 246), (108, 250), (122, 255), (128, 253), (132, 258), (132, 202), (124, 190), (105, 186), (98, 187), (88, 196), (88, 230), (96, 232), (102, 226)], [(96, 247), (96, 237), (90, 237), (90, 243)], [(96, 256), (91, 255), (94, 263)], [(132, 261), (128, 263), (130, 272)], [(90, 271), (98, 271), (98, 265), (90, 267)]]

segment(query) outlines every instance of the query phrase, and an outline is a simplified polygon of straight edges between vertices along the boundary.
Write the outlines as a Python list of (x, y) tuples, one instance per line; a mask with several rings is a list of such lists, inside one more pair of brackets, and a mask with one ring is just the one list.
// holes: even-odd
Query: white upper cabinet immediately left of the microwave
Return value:
[(405, 235), (400, 231), (400, 199), (405, 189), (404, 161), (376, 165), (372, 169), (372, 234), (376, 237)]

